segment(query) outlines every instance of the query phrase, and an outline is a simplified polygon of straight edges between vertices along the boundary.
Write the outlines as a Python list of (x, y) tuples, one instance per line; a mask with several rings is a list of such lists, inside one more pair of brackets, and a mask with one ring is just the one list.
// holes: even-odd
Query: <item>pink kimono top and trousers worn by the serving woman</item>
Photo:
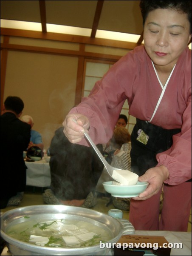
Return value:
[[(145, 201), (132, 199), (130, 221), (141, 230), (186, 231), (191, 208), (191, 182), (187, 182), (191, 179), (191, 50), (186, 47), (166, 85), (161, 85), (155, 72), (144, 46), (136, 47), (114, 64), (70, 113), (89, 118), (89, 134), (96, 144), (112, 137), (125, 100), (129, 114), (137, 119), (167, 130), (180, 129), (172, 136), (172, 146), (156, 155), (157, 165), (165, 165), (170, 174), (164, 182), (160, 224), (161, 191)], [(81, 144), (88, 145), (85, 139)]]

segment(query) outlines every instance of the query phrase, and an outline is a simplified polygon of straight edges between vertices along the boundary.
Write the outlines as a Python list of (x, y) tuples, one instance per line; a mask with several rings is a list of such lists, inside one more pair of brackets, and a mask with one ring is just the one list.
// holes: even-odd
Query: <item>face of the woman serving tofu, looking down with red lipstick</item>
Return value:
[(155, 67), (172, 70), (191, 39), (187, 14), (172, 9), (150, 11), (144, 25), (144, 46)]

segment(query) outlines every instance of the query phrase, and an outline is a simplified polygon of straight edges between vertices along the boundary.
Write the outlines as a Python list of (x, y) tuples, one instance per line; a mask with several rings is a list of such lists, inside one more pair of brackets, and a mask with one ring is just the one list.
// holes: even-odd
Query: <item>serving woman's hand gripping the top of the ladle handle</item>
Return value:
[(82, 114), (68, 114), (62, 123), (65, 136), (71, 143), (78, 143), (84, 137), (84, 132), (88, 132), (89, 119)]

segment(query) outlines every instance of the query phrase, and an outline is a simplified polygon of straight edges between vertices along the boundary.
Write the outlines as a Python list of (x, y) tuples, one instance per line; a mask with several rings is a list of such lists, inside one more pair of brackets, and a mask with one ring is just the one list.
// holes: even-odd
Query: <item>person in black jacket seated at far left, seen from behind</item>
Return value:
[(9, 96), (3, 104), (0, 117), (1, 209), (18, 205), (25, 191), (27, 167), (23, 151), (30, 142), (31, 127), (19, 119), (23, 108), (23, 100)]

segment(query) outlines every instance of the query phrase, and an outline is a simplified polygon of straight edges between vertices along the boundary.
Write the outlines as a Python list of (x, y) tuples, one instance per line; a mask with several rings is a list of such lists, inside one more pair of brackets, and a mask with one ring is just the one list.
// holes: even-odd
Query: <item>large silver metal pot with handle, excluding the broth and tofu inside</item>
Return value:
[[(110, 248), (100, 248), (99, 245), (81, 248), (44, 247), (21, 242), (6, 234), (6, 228), (12, 222), (27, 221), (27, 216), (43, 216), (50, 219), (84, 220), (97, 225), (111, 234), (112, 239), (107, 243), (117, 242), (123, 234), (135, 232), (133, 226), (125, 219), (114, 219), (106, 214), (86, 208), (65, 205), (33, 205), (9, 210), (1, 216), (1, 237), (6, 241), (9, 251), (13, 255), (107, 255)], [(25, 218), (23, 218), (25, 216)], [(37, 221), (38, 222), (38, 221)]]

